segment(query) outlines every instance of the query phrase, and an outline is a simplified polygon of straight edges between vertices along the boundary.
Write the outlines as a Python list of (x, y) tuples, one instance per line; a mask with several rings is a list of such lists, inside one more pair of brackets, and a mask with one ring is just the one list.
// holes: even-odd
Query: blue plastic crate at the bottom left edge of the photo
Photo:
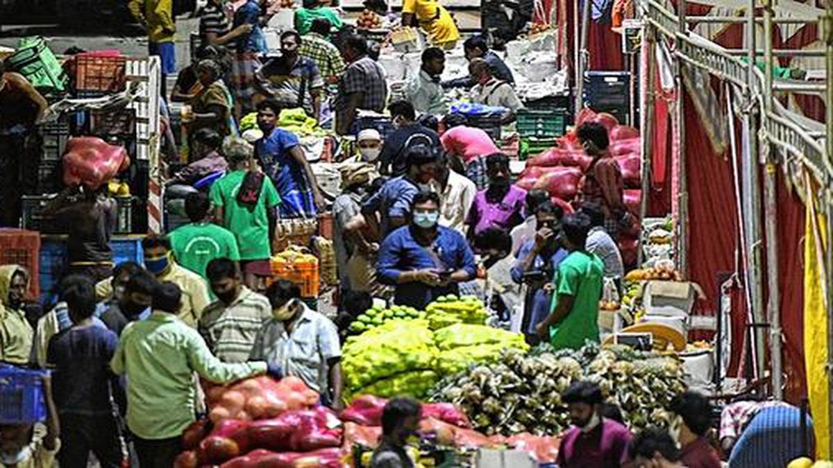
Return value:
[(0, 366), (0, 424), (32, 424), (47, 419), (42, 380), (45, 374)]

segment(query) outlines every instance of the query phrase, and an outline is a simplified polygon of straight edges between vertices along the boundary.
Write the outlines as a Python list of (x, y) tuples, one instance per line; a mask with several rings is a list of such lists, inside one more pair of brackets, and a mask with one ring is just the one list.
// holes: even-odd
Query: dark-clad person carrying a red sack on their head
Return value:
[(90, 276), (95, 281), (110, 276), (110, 238), (116, 228), (118, 206), (107, 192), (107, 184), (95, 189), (67, 187), (43, 208), (43, 214), (57, 217), (67, 227), (68, 273)]

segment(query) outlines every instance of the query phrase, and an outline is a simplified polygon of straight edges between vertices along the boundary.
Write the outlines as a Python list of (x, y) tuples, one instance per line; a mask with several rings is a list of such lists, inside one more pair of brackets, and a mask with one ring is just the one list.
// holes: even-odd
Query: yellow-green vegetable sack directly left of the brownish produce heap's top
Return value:
[(475, 362), (497, 361), (506, 348), (529, 349), (520, 333), (463, 323), (435, 331), (434, 342), (440, 350), (436, 369), (445, 375), (465, 371)]

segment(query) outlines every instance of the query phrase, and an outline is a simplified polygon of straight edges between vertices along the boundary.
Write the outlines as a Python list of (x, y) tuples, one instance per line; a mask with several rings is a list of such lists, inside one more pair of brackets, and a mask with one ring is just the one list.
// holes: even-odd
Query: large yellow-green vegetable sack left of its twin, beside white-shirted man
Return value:
[(391, 320), (342, 348), (349, 395), (423, 396), (436, 383), (434, 337), (424, 320)]

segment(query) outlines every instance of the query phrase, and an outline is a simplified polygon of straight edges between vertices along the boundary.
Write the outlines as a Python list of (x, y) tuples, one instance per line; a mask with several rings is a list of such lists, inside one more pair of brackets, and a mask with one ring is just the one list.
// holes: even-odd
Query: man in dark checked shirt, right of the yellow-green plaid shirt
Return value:
[(385, 110), (387, 81), (382, 66), (367, 57), (367, 41), (364, 37), (348, 36), (342, 46), (342, 57), (349, 65), (338, 82), (338, 95), (333, 108), (336, 111), (337, 133), (347, 135), (352, 133), (357, 110)]

